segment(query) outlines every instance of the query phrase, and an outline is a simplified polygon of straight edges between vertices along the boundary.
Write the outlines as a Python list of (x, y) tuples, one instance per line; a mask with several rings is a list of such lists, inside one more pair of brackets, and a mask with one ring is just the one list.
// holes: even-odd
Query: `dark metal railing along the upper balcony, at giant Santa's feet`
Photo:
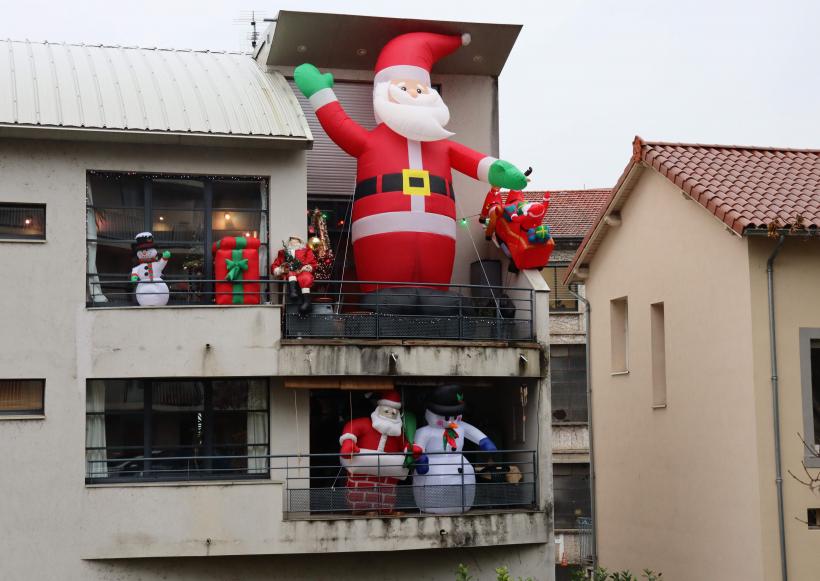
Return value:
[[(88, 306), (138, 306), (136, 284), (113, 275), (88, 275)], [(285, 306), (286, 338), (445, 339), (530, 341), (535, 338), (531, 288), (368, 281), (317, 281), (309, 312), (291, 304), (281, 280), (243, 280), (234, 303), (225, 281), (167, 276), (169, 305), (253, 304)], [(365, 290), (366, 289), (366, 290)], [(546, 313), (544, 313), (546, 316)]]

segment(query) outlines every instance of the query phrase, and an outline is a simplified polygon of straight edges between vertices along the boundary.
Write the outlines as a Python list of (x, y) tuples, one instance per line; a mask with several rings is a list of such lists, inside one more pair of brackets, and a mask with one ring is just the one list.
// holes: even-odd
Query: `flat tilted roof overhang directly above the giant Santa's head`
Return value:
[(269, 47), (265, 64), (297, 66), (309, 62), (320, 69), (372, 71), (382, 47), (400, 34), (469, 32), (472, 36), (470, 44), (441, 59), (436, 63), (434, 71), (497, 77), (507, 62), (521, 27), (520, 24), (414, 20), (280, 10), (276, 24), (266, 35)]

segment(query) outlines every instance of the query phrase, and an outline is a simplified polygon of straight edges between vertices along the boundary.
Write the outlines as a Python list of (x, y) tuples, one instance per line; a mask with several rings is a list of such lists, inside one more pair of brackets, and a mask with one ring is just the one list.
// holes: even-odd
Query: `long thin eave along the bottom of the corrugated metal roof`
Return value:
[(313, 147), (313, 140), (306, 137), (138, 131), (133, 129), (95, 129), (85, 127), (56, 127), (50, 125), (23, 125), (17, 123), (0, 123), (0, 138), (245, 147), (255, 149), (311, 149)]

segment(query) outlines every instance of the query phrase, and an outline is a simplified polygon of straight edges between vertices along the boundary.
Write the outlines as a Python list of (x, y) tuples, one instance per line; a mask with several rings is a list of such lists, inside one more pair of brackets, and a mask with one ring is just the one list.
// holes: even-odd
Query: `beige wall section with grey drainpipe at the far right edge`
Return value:
[[(771, 357), (769, 351), (768, 292), (766, 261), (775, 246), (772, 239), (749, 241), (749, 271), (752, 290), (754, 337), (754, 385), (756, 389), (757, 439), (761, 489), (761, 526), (765, 578), (780, 575), (777, 496), (775, 488), (774, 437), (772, 424)], [(780, 384), (780, 438), (783, 455), (784, 520), (786, 555), (790, 579), (816, 579), (820, 571), (820, 531), (809, 530), (806, 509), (820, 507), (820, 496), (789, 476), (788, 470), (806, 479), (801, 467), (803, 444), (797, 434), (803, 427), (800, 378), (799, 333), (801, 327), (820, 328), (820, 242), (787, 240), (774, 263), (775, 326), (777, 332)], [(811, 470), (813, 474), (818, 470)], [(799, 520), (798, 520), (799, 519)]]

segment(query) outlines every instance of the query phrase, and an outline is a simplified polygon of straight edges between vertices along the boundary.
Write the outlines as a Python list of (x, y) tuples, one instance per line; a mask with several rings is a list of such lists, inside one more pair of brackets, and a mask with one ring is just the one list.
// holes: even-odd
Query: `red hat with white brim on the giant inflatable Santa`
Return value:
[(430, 85), (430, 70), (436, 61), (470, 44), (469, 33), (435, 34), (409, 32), (388, 42), (376, 61), (374, 83), (415, 79)]

